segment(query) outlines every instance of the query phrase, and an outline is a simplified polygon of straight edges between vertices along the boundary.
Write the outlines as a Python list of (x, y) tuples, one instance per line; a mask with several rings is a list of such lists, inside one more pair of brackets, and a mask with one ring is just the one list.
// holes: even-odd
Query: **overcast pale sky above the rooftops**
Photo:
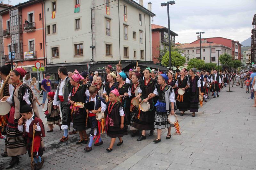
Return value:
[[(11, 0), (11, 5), (27, 0)], [(135, 0), (139, 3), (139, 0)], [(153, 23), (166, 26), (167, 0), (144, 0), (144, 7), (152, 3), (156, 14)], [(204, 31), (202, 38), (225, 37), (242, 42), (251, 37), (252, 18), (256, 13), (256, 0), (176, 0), (170, 6), (171, 30), (179, 34), (176, 42), (190, 43), (196, 40), (196, 32)], [(7, 4), (8, 0), (3, 0)]]

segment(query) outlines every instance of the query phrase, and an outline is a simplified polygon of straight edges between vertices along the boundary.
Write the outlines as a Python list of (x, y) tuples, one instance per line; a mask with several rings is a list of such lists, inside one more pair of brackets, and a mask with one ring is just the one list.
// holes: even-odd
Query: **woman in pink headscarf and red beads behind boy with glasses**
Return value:
[[(72, 111), (71, 118), (73, 122), (74, 129), (78, 130), (80, 140), (76, 142), (76, 144), (82, 144), (88, 142), (88, 135), (86, 133), (86, 112), (84, 108), (80, 108), (80, 106), (76, 105), (75, 102), (84, 103), (86, 99), (85, 91), (87, 90), (86, 85), (81, 85), (79, 82), (84, 79), (80, 74), (74, 74), (70, 78), (70, 84), (72, 85), (68, 101), (71, 103)], [(71, 98), (71, 99), (70, 99)]]

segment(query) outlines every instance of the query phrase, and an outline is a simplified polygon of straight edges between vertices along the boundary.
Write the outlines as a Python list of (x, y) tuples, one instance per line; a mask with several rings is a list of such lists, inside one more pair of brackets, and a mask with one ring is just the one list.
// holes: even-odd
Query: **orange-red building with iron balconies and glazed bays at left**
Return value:
[[(14, 51), (13, 65), (18, 64), (36, 78), (35, 62), (45, 66), (43, 4), (43, 1), (29, 0), (0, 11), (3, 18), (4, 62), (11, 63), (8, 54)], [(39, 79), (43, 79), (42, 72)]]

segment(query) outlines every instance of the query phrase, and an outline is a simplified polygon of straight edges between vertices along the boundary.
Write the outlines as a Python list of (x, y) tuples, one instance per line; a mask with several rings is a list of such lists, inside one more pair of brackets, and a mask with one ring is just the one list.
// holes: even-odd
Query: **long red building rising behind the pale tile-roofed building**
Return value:
[[(202, 43), (206, 43), (207, 41), (212, 41), (213, 43), (221, 44), (226, 47), (232, 48), (232, 58), (233, 60), (241, 60), (241, 46), (238, 41), (234, 41), (228, 38), (223, 37), (212, 37), (212, 38), (201, 38)], [(198, 44), (200, 43), (199, 36), (196, 41), (191, 42), (190, 44)]]

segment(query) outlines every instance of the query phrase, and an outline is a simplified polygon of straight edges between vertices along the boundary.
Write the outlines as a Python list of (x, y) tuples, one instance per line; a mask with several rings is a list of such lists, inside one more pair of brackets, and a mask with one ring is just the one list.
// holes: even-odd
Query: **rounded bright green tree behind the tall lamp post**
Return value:
[[(171, 51), (171, 57), (172, 57), (172, 67), (180, 67), (184, 66), (186, 62), (186, 58), (182, 57), (181, 54), (178, 51)], [(165, 55), (162, 58), (162, 65), (165, 67), (169, 66), (169, 51), (165, 53)]]

